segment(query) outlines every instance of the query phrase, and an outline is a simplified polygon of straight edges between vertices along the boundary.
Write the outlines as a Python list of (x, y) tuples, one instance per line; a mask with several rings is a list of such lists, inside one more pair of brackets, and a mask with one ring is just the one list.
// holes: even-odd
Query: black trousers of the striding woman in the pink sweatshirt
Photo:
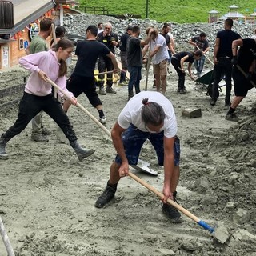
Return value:
[(3, 137), (6, 138), (6, 140), (10, 140), (20, 134), (22, 130), (26, 128), (30, 120), (40, 111), (46, 112), (46, 114), (54, 119), (66, 135), (66, 138), (69, 139), (70, 143), (78, 139), (74, 133), (73, 126), (70, 124), (69, 118), (64, 110), (62, 110), (61, 103), (58, 102), (58, 99), (54, 98), (54, 94), (35, 96), (33, 94), (27, 94), (26, 92), (24, 92), (21, 102), (19, 103), (16, 122), (3, 134)]

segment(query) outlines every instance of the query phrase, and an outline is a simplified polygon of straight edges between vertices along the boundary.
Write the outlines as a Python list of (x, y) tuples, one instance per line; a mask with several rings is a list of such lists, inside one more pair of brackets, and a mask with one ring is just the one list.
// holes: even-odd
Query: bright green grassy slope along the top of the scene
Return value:
[[(80, 0), (80, 6), (106, 7), (110, 14), (141, 14), (146, 17), (146, 0)], [(256, 0), (148, 0), (149, 18), (159, 22), (207, 22), (208, 12), (218, 10), (219, 17), (229, 12), (228, 6), (239, 6), (238, 12), (254, 12)], [(81, 8), (82, 10), (82, 8)]]

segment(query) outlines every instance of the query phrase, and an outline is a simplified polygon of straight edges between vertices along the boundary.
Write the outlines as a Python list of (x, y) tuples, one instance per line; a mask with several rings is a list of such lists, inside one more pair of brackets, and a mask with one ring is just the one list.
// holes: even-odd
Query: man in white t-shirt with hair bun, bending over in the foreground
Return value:
[(143, 91), (136, 94), (123, 108), (111, 136), (117, 156), (110, 166), (110, 179), (106, 189), (95, 202), (97, 208), (105, 207), (114, 198), (120, 178), (128, 175), (129, 165), (137, 165), (142, 145), (149, 139), (164, 166), (162, 212), (172, 222), (181, 222), (178, 210), (166, 203), (175, 201), (179, 178), (179, 139), (177, 122), (171, 102), (159, 92)]

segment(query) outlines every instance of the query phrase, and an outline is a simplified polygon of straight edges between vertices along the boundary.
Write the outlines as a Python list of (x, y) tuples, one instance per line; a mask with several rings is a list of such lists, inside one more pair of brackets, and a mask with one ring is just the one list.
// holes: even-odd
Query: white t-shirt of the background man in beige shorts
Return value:
[(160, 49), (156, 54), (154, 54), (152, 58), (153, 64), (159, 64), (163, 60), (169, 58), (167, 45), (166, 45), (166, 38), (164, 38), (162, 34), (158, 34), (158, 37), (155, 39), (155, 41), (151, 40), (151, 46), (150, 46), (151, 51), (153, 51), (156, 46), (160, 46)]

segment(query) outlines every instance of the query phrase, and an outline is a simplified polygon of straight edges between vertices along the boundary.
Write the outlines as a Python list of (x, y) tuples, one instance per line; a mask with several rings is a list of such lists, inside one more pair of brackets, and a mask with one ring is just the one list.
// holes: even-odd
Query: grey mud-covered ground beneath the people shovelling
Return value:
[[(230, 239), (223, 245), (216, 242), (185, 215), (182, 224), (170, 223), (158, 198), (128, 177), (119, 182), (114, 202), (96, 209), (115, 150), (108, 135), (72, 106), (68, 114), (79, 142), (96, 149), (90, 158), (79, 162), (54, 133), (50, 142), (31, 141), (30, 125), (6, 146), (10, 158), (0, 162), (0, 215), (16, 255), (256, 255), (255, 90), (239, 106), (241, 121), (234, 123), (225, 120), (223, 93), (217, 105), (210, 106), (204, 86), (189, 78), (189, 93), (177, 94), (177, 78), (174, 71), (169, 75), (166, 98), (177, 114), (182, 147), (178, 202), (210, 226), (224, 224)], [(144, 74), (142, 90), (145, 80)], [(151, 75), (148, 88), (154, 90)], [(109, 130), (127, 99), (127, 87), (116, 90), (100, 96)], [(78, 102), (98, 118), (86, 97)], [(182, 117), (186, 108), (201, 108), (202, 118)], [(17, 114), (17, 107), (0, 112), (1, 133)], [(47, 129), (56, 130), (46, 114), (43, 118)], [(158, 177), (130, 171), (162, 191), (162, 167), (150, 142), (140, 158), (150, 162)], [(0, 255), (6, 255), (2, 241)]]

